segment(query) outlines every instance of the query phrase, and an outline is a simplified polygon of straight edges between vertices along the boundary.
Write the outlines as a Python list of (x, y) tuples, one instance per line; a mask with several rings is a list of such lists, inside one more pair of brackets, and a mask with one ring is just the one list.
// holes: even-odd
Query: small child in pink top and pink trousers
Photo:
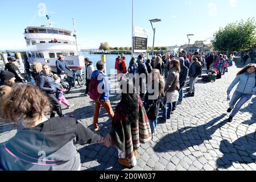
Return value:
[(64, 104), (65, 106), (68, 107), (68, 109), (71, 109), (75, 105), (69, 104), (69, 102), (65, 98), (64, 92), (66, 91), (66, 89), (64, 89), (63, 86), (61, 85), (60, 77), (55, 74), (55, 75), (53, 75), (53, 78), (55, 80), (55, 86), (56, 86), (56, 90), (57, 90), (55, 93), (57, 100), (60, 102), (60, 104)]

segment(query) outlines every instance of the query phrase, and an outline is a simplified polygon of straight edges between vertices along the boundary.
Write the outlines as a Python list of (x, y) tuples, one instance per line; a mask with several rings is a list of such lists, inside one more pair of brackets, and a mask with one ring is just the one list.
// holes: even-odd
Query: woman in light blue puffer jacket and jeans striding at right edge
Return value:
[(229, 122), (232, 122), (233, 117), (238, 113), (243, 104), (249, 101), (253, 94), (256, 93), (255, 71), (255, 64), (246, 65), (246, 67), (242, 68), (241, 71), (237, 73), (237, 77), (229, 86), (227, 91), (228, 95), (231, 93), (234, 86), (238, 83), (237, 89), (234, 92), (232, 100), (229, 104), (228, 113), (233, 110), (230, 114)]

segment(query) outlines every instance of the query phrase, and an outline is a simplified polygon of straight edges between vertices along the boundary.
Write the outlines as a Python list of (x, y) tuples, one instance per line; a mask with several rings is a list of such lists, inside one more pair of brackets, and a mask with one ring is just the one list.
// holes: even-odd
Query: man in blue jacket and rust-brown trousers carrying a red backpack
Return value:
[(94, 78), (97, 78), (97, 87), (100, 88), (101, 85), (102, 90), (98, 90), (98, 93), (102, 93), (99, 100), (95, 101), (95, 110), (93, 115), (93, 128), (94, 131), (98, 131), (101, 129), (102, 125), (98, 125), (98, 115), (100, 115), (101, 107), (104, 107), (109, 114), (110, 119), (114, 117), (114, 111), (110, 105), (109, 101), (109, 92), (110, 92), (110, 84), (108, 77), (103, 73), (105, 69), (104, 61), (98, 61), (96, 64), (97, 70), (92, 73), (91, 81)]

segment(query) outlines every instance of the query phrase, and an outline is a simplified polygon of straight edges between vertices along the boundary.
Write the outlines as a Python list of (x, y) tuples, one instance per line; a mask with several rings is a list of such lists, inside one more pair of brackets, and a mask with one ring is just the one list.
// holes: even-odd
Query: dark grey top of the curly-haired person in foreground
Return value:
[(75, 144), (102, 139), (75, 118), (51, 118), (19, 130), (0, 146), (0, 168), (7, 171), (77, 171), (80, 154)]

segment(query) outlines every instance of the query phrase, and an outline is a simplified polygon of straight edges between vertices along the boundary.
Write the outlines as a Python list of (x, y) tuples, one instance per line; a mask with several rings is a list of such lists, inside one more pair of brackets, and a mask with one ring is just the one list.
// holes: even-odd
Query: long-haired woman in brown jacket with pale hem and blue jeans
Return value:
[[(179, 99), (179, 75), (180, 61), (176, 59), (171, 60), (170, 71), (168, 72), (166, 85), (164, 86), (164, 93), (166, 93), (166, 96), (163, 99), (163, 115), (160, 118), (163, 122), (166, 122), (166, 119), (171, 118), (172, 102), (176, 102)], [(168, 110), (166, 109), (167, 106)]]

